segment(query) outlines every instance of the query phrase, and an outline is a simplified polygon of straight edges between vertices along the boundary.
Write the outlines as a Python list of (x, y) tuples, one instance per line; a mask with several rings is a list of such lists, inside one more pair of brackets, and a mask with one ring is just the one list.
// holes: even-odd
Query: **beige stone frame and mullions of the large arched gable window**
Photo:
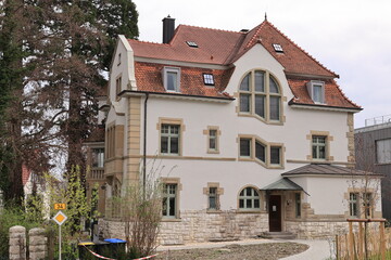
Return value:
[[(257, 73), (263, 74), (263, 90), (256, 90), (256, 77)], [(248, 90), (242, 89), (243, 80), (249, 76)], [(270, 81), (276, 83), (277, 93), (270, 92)], [(244, 102), (244, 96), (248, 96), (248, 101)], [(262, 96), (263, 101), (257, 98)], [(278, 99), (278, 119), (272, 119), (272, 100), (273, 98)], [(238, 107), (237, 112), (239, 116), (253, 116), (265, 123), (283, 123), (283, 92), (282, 87), (276, 76), (266, 69), (255, 68), (247, 72), (240, 79), (238, 87)], [(249, 109), (242, 109), (242, 107), (248, 106)], [(262, 113), (257, 113), (257, 104), (263, 105)]]

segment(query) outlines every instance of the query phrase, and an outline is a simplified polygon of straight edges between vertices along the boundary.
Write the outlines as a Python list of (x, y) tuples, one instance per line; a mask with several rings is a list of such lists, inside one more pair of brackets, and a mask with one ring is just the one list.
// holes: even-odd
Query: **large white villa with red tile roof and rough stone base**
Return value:
[[(353, 168), (362, 108), (337, 74), (267, 20), (242, 31), (174, 30), (169, 17), (163, 27), (164, 43), (118, 37), (104, 147), (109, 197), (142, 180), (144, 162), (147, 173), (164, 166), (161, 243), (319, 237), (365, 210), (381, 217), (352, 183), (366, 174)], [(365, 196), (380, 196), (376, 183)], [(100, 223), (124, 235), (112, 212)]]

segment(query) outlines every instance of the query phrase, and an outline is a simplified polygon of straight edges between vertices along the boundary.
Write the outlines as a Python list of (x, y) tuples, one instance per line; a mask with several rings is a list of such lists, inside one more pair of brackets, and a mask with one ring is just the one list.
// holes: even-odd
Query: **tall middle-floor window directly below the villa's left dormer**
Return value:
[(179, 155), (180, 126), (162, 125), (161, 127), (161, 153)]

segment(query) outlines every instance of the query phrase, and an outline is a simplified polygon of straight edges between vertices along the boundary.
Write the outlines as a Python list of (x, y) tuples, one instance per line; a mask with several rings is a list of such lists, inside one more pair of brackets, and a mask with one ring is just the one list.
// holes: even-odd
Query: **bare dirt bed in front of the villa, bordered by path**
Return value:
[(258, 245), (228, 245), (220, 248), (171, 250), (155, 260), (277, 260), (308, 249), (298, 243), (266, 243)]

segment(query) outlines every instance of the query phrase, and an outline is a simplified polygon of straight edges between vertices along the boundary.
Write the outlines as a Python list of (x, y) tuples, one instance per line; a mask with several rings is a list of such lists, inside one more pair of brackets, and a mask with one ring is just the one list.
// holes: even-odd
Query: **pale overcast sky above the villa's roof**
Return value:
[(252, 29), (267, 20), (340, 75), (342, 91), (365, 119), (391, 115), (390, 0), (134, 0), (140, 40), (162, 42), (162, 20), (216, 29)]

